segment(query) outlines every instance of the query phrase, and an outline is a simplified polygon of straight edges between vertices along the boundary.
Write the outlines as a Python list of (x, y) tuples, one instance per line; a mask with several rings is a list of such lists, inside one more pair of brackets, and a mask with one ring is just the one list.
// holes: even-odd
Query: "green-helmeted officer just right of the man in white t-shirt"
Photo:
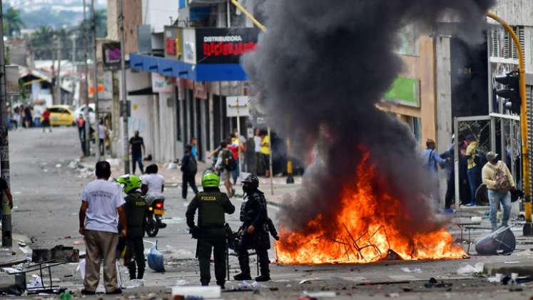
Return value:
[[(144, 245), (143, 236), (146, 227), (146, 201), (141, 197), (141, 179), (134, 175), (118, 177), (117, 182), (123, 185), (127, 194), (124, 200), (124, 211), (128, 222), (126, 236), (126, 255), (124, 261), (130, 273), (130, 280), (142, 279), (144, 275)], [(134, 260), (132, 258), (135, 257)], [(137, 268), (136, 268), (137, 267)], [(136, 270), (137, 269), (137, 270)], [(136, 272), (137, 271), (137, 272)]]

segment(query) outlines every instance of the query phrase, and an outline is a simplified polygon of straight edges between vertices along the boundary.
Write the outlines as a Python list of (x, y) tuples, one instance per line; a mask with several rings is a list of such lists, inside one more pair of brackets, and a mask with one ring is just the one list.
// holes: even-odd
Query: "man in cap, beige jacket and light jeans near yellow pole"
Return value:
[(514, 179), (507, 166), (498, 161), (498, 154), (490, 151), (487, 153), (487, 164), (482, 169), (482, 180), (487, 184), (490, 203), (490, 224), (492, 231), (497, 229), (496, 212), (498, 204), (502, 202), (503, 216), (502, 226), (507, 226), (511, 213), (511, 193), (514, 191)]

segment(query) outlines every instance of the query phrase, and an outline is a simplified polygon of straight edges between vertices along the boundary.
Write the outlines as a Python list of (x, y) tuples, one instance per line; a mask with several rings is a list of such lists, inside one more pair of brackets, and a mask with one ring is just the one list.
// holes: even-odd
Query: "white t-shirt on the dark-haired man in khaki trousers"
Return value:
[(121, 190), (112, 182), (96, 179), (89, 182), (80, 196), (88, 204), (85, 229), (118, 233), (118, 206), (124, 204)]

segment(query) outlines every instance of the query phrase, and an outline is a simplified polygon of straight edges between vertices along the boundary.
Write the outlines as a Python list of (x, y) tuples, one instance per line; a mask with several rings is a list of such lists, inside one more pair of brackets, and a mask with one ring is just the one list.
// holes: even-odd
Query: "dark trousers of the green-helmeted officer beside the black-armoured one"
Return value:
[(198, 262), (200, 263), (200, 283), (209, 284), (211, 271), (209, 260), (211, 249), (215, 260), (215, 279), (217, 284), (225, 282), (225, 229), (200, 229), (198, 236)]

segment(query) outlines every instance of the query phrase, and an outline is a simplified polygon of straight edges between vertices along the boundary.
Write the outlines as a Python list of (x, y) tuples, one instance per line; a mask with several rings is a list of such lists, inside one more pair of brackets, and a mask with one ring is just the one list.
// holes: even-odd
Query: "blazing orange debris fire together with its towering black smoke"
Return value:
[[(262, 2), (262, 1), (260, 1)], [(280, 212), (283, 263), (460, 258), (437, 219), (410, 129), (375, 106), (402, 69), (400, 31), (462, 21), (480, 37), (493, 0), (268, 1), (244, 65), (258, 110), (315, 156)], [(290, 121), (290, 122), (289, 122)]]

